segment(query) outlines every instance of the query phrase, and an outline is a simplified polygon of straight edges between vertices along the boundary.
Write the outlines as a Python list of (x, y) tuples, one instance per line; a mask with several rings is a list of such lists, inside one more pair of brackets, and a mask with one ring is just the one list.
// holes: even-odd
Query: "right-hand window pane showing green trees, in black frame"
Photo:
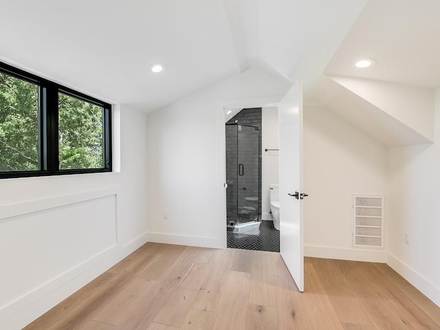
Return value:
[(104, 168), (104, 109), (59, 93), (58, 111), (60, 168)]

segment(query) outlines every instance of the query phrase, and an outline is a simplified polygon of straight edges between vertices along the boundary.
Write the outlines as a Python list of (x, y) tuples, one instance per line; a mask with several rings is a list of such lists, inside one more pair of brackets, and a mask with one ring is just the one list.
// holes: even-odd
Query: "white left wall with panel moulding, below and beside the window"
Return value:
[(120, 173), (0, 180), (0, 329), (21, 329), (146, 242), (146, 114), (116, 108)]

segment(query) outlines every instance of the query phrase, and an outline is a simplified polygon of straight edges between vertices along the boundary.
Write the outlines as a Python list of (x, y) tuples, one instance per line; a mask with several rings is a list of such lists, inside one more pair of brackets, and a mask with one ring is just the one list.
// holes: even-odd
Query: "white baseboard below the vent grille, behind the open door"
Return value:
[(386, 263), (386, 252), (383, 250), (330, 248), (328, 246), (305, 245), (304, 255), (314, 258)]

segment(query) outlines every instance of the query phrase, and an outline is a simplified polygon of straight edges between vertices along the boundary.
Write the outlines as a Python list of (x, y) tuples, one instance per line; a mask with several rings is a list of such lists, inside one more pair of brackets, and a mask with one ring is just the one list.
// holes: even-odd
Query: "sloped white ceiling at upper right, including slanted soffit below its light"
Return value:
[[(432, 142), (434, 89), (440, 87), (439, 12), (438, 0), (369, 0), (324, 70), (330, 79), (320, 78), (308, 97), (385, 146)], [(361, 58), (377, 63), (358, 69)], [(336, 86), (336, 81), (349, 83)], [(332, 90), (330, 100), (326, 91)], [(358, 113), (355, 104), (375, 105)], [(374, 124), (381, 116), (385, 126)]]

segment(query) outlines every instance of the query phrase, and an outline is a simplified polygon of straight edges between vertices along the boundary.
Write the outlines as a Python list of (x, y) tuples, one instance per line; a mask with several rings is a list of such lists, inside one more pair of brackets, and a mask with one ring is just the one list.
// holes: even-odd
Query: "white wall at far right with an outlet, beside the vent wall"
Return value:
[(388, 264), (440, 306), (440, 90), (435, 100), (437, 142), (388, 152)]

